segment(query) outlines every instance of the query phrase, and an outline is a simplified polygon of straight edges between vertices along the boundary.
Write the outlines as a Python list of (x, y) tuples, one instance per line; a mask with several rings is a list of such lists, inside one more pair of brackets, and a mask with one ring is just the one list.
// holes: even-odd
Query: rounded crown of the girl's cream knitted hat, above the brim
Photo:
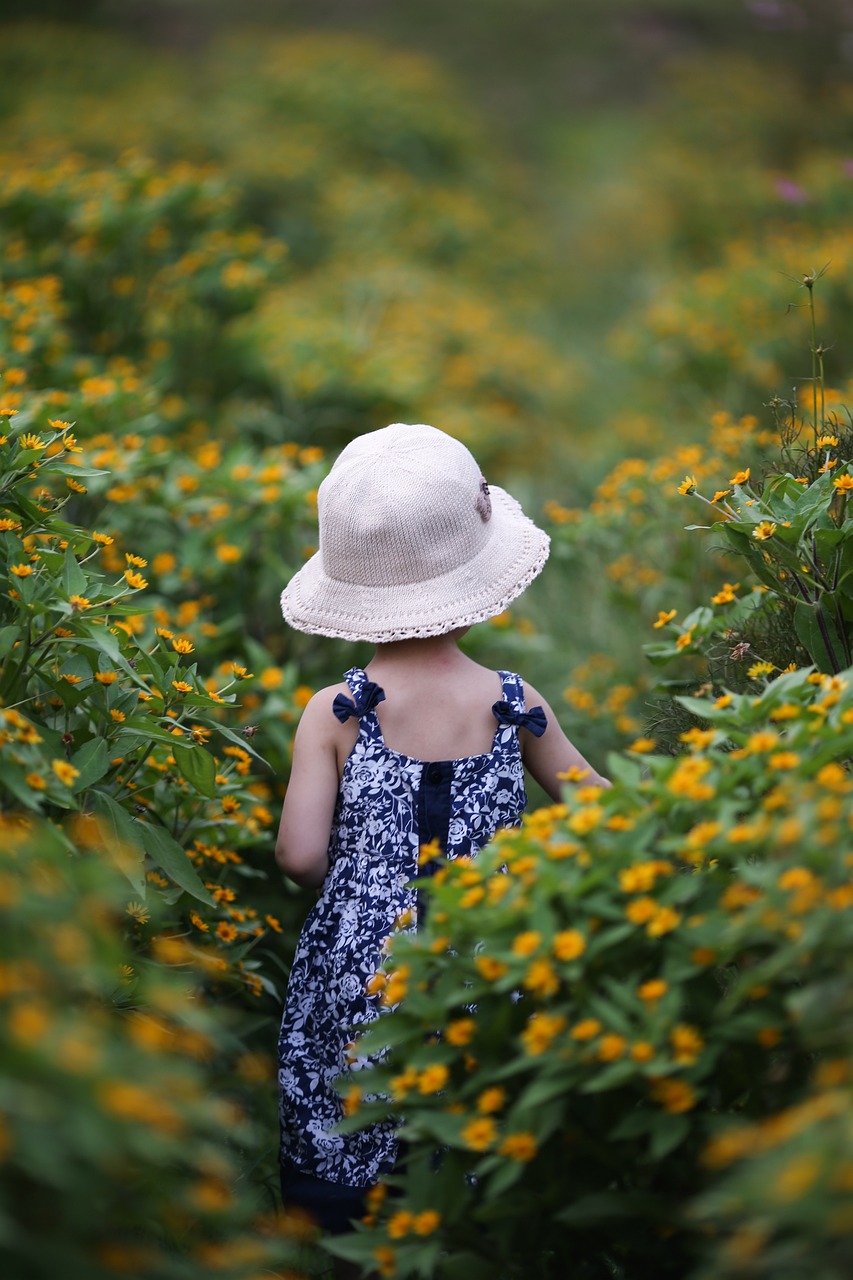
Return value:
[(483, 477), (459, 440), (394, 422), (352, 440), (320, 485), (320, 558), (353, 586), (428, 582), (489, 538)]

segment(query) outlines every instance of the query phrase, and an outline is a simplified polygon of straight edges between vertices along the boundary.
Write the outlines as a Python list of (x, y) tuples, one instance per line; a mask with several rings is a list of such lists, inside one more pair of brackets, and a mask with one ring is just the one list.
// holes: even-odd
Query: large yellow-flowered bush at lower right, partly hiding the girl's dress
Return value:
[[(850, 1114), (853, 685), (803, 668), (685, 704), (708, 724), (686, 754), (611, 756), (612, 790), (581, 781), (447, 864), (425, 922), (400, 922), (359, 1046), (380, 1061), (345, 1098), (350, 1123), (398, 1114), (405, 1158), (336, 1252), (386, 1275), (571, 1256), (727, 1276), (761, 1216), (770, 1257), (849, 1268), (847, 1129), (830, 1148), (807, 1126)], [(753, 1153), (733, 1187), (761, 1176), (760, 1208), (720, 1180)]]

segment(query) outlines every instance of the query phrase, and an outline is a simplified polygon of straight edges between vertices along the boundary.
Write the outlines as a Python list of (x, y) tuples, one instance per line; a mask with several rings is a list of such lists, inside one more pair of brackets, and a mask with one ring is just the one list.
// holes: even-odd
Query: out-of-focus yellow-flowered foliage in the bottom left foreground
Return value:
[(310, 1229), (243, 1170), (266, 1064), (197, 998), (213, 950), (175, 934), (161, 900), (128, 911), (136, 851), (113, 860), (93, 820), (73, 824), (74, 849), (23, 813), (0, 826), (4, 1274), (296, 1280)]

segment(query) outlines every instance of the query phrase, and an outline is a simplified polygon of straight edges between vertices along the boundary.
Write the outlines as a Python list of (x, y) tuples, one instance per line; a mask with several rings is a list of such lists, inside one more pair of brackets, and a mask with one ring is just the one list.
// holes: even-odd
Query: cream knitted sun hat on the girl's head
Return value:
[(487, 485), (459, 440), (394, 422), (352, 440), (318, 493), (320, 548), (282, 591), (297, 631), (343, 640), (444, 635), (501, 613), (549, 538)]

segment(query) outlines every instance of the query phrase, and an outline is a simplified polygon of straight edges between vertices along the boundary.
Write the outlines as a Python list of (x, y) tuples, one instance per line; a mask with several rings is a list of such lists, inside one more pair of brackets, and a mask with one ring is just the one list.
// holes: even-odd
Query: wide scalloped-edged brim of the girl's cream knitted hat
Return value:
[(282, 613), (297, 631), (383, 644), (446, 635), (502, 613), (542, 572), (551, 539), (508, 493), (489, 485), (489, 538), (465, 564), (405, 586), (357, 586), (330, 579), (321, 553), (282, 591)]

